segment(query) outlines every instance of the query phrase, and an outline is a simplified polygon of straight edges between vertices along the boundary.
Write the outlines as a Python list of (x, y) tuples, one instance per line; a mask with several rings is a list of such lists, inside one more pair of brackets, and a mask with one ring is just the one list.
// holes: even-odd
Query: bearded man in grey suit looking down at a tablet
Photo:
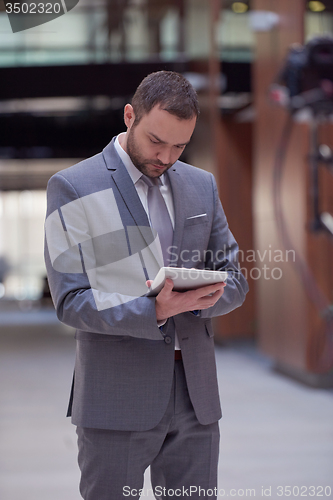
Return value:
[[(214, 177), (178, 160), (198, 115), (184, 77), (148, 75), (125, 107), (127, 132), (48, 184), (45, 259), (58, 317), (76, 328), (69, 414), (85, 500), (144, 496), (149, 465), (157, 499), (217, 496), (211, 318), (248, 287)], [(167, 280), (147, 296), (163, 263), (228, 279), (183, 293)]]

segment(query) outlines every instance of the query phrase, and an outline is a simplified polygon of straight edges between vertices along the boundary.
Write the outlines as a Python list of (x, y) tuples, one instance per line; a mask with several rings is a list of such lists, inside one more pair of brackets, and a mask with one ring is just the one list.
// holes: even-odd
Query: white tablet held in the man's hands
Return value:
[(157, 295), (163, 288), (167, 278), (172, 279), (176, 292), (194, 290), (202, 286), (214, 285), (226, 281), (227, 271), (209, 271), (207, 269), (186, 269), (185, 267), (161, 267), (158, 271), (148, 297)]

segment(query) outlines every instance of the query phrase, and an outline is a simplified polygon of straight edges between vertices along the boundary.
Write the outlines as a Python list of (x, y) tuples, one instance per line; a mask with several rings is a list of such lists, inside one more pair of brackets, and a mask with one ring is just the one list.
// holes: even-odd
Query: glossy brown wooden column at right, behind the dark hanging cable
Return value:
[[(256, 60), (253, 65), (257, 119), (254, 126), (253, 217), (256, 249), (271, 246), (283, 250), (274, 215), (273, 164), (288, 112), (271, 105), (269, 85), (281, 68), (291, 43), (303, 43), (303, 0), (253, 0), (255, 10), (279, 14), (280, 23), (271, 31), (257, 33)], [(328, 125), (325, 125), (326, 133)], [(331, 127), (329, 127), (330, 129)], [(331, 297), (333, 290), (332, 242), (324, 234), (309, 230), (309, 125), (294, 123), (290, 134), (282, 182), (282, 207), (292, 245), (312, 267), (319, 287)], [(331, 179), (323, 173), (323, 204), (331, 207)], [(285, 259), (286, 260), (286, 259)], [(268, 264), (267, 264), (268, 265)], [(319, 352), (323, 346), (323, 321), (308, 300), (305, 285), (291, 262), (281, 262), (280, 280), (257, 283), (256, 310), (258, 340), (262, 350), (282, 369), (294, 373), (319, 371)], [(331, 273), (331, 274), (329, 274)]]

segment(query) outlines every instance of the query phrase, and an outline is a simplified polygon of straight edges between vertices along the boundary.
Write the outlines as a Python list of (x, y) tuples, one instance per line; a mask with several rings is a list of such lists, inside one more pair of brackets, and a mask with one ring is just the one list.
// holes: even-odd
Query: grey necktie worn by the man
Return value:
[(173, 227), (167, 206), (159, 189), (161, 179), (150, 178), (146, 175), (142, 175), (141, 179), (148, 186), (148, 210), (150, 222), (152, 228), (158, 233), (161, 242), (164, 265), (168, 266), (170, 263), (168, 248), (172, 245)]

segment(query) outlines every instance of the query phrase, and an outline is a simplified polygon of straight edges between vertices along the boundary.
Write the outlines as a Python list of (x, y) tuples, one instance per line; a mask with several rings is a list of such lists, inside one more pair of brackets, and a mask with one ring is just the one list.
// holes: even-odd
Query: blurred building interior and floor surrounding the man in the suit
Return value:
[(160, 69), (197, 89), (183, 159), (215, 175), (250, 285), (242, 309), (215, 322), (220, 483), (236, 498), (251, 485), (273, 498), (290, 496), (279, 485), (332, 488), (333, 42), (322, 37), (333, 0), (80, 0), (15, 33), (5, 3), (1, 498), (79, 498), (63, 418), (75, 345), (46, 280), (46, 184), (125, 129), (124, 105)]

